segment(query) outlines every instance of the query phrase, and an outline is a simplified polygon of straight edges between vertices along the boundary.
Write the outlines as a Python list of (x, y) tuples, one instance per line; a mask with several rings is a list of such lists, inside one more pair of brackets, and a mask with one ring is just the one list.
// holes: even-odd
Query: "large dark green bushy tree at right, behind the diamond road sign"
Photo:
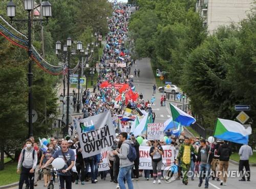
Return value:
[(220, 28), (186, 59), (182, 87), (206, 127), (213, 128), (218, 117), (235, 120), (236, 104), (251, 105), (247, 114), (255, 127), (255, 18), (242, 21), (239, 30)]

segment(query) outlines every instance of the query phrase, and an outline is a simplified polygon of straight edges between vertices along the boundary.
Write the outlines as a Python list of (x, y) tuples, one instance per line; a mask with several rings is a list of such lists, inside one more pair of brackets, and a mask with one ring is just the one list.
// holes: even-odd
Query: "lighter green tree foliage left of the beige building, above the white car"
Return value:
[(165, 78), (180, 84), (189, 52), (206, 37), (195, 1), (138, 1), (140, 10), (129, 24), (137, 57), (150, 57)]

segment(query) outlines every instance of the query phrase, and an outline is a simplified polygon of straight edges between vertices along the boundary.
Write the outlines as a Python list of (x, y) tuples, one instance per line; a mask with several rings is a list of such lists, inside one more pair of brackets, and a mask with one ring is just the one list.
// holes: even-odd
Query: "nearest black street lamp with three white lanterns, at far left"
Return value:
[[(28, 109), (29, 109), (29, 137), (33, 136), (33, 125), (32, 125), (32, 78), (33, 78), (33, 73), (32, 73), (32, 40), (31, 40), (31, 23), (32, 21), (45, 21), (44, 19), (33, 19), (31, 18), (31, 11), (34, 10), (34, 0), (24, 0), (24, 9), (28, 11), (28, 19), (13, 19), (15, 17), (15, 10), (16, 6), (10, 0), (10, 2), (7, 4), (7, 16), (10, 17), (11, 22), (12, 21), (27, 21), (28, 22), (28, 55), (29, 55), (29, 72), (28, 72), (28, 86), (29, 86), (29, 104), (28, 104)], [(41, 11), (42, 11), (42, 16), (46, 17), (46, 20), (48, 21), (48, 18), (52, 16), (52, 5), (46, 1), (42, 3), (41, 5)], [(38, 6), (38, 7), (39, 7)]]

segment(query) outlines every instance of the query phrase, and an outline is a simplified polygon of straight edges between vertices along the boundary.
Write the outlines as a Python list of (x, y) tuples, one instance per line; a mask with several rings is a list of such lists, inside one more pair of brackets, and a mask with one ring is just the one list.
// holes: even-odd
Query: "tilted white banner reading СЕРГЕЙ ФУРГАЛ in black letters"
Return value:
[(110, 111), (76, 120), (76, 125), (83, 158), (110, 150), (114, 144), (115, 127)]

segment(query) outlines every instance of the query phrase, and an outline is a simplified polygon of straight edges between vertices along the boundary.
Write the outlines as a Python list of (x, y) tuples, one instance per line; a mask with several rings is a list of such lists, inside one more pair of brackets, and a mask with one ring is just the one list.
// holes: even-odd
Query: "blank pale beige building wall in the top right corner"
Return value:
[(238, 23), (245, 19), (253, 6), (253, 0), (209, 0), (207, 25), (210, 33), (220, 25)]

